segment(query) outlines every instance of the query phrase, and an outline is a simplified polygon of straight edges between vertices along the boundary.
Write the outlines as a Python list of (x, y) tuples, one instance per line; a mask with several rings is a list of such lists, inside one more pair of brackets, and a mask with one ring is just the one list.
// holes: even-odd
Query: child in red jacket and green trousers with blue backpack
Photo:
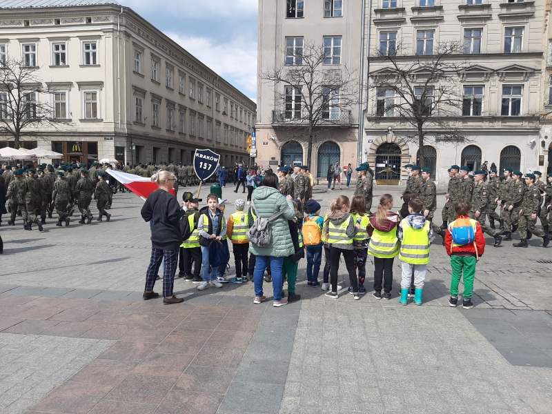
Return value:
[[(485, 237), (478, 221), (469, 218), (471, 203), (458, 201), (454, 205), (456, 220), (449, 224), (444, 239), (446, 253), (451, 257), (452, 279), (451, 299), (449, 306), (455, 307), (458, 302), (458, 284), (464, 279), (464, 293), (462, 307), (473, 308), (471, 295), (473, 294), (473, 279), (475, 279), (475, 265), (485, 252)], [(467, 232), (465, 231), (467, 228)], [(472, 233), (473, 232), (473, 233)], [(458, 236), (457, 236), (458, 234)], [(462, 235), (467, 235), (470, 242), (460, 241)], [(473, 240), (472, 240), (473, 239)]]

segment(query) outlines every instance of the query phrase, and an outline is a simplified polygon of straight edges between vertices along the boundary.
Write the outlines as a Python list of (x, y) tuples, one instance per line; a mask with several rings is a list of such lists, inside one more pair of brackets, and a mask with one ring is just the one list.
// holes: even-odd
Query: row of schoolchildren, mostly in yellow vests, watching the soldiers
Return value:
[[(226, 219), (226, 200), (217, 195), (207, 196), (207, 205), (199, 208), (201, 199), (192, 193), (183, 195), (184, 217), (181, 218), (182, 239), (179, 252), (179, 277), (197, 284), (198, 290), (209, 287), (222, 288), (225, 283), (242, 284), (253, 280), (256, 257), (250, 253), (248, 231), (255, 221), (255, 208), (244, 211), (246, 202), (235, 201), (235, 213)], [(282, 265), (282, 297), (275, 286), (274, 306), (301, 299), (295, 293), (297, 268), (300, 259), (306, 257), (307, 286), (322, 286), (326, 297), (337, 299), (342, 286), (337, 284), (340, 258), (348, 273), (348, 288), (353, 299), (366, 293), (366, 261), (373, 257), (373, 297), (391, 299), (393, 262), (399, 257), (402, 266), (399, 302), (422, 304), (424, 279), (429, 263), (430, 245), (433, 242), (431, 222), (424, 217), (423, 202), (414, 193), (404, 193), (402, 207), (393, 213), (393, 197), (380, 197), (375, 214), (366, 213), (366, 201), (362, 197), (340, 195), (331, 202), (326, 213), (321, 213), (320, 204), (311, 199), (305, 204), (305, 217), (297, 210), (293, 200), (295, 218), (288, 219), (289, 233), (293, 241), (293, 254), (284, 258)], [(451, 256), (452, 280), (450, 306), (457, 306), (460, 279), (464, 279), (462, 306), (472, 308), (475, 264), (484, 253), (485, 239), (480, 224), (469, 218), (471, 204), (460, 201), (455, 204), (456, 221), (449, 224), (446, 232), (446, 252)], [(229, 241), (229, 242), (228, 242)], [(229, 244), (233, 247), (235, 277), (226, 278), (230, 261)], [(322, 269), (322, 283), (319, 271)], [(266, 267), (266, 282), (271, 281), (270, 264)], [(201, 274), (200, 274), (201, 272)], [(249, 279), (248, 279), (249, 276)], [(274, 284), (280, 283), (273, 280)], [(287, 300), (284, 283), (287, 284)], [(255, 297), (254, 303), (264, 300)]]

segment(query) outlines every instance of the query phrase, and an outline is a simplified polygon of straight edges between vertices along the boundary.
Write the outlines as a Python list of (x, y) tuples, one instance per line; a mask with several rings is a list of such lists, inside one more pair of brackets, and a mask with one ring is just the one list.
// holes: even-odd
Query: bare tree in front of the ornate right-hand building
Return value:
[[(386, 50), (377, 50), (372, 62), (387, 63), (385, 68), (370, 72), (368, 90), (376, 104), (375, 119), (406, 121), (415, 130), (402, 136), (420, 150), (420, 166), (424, 166), (424, 142), (428, 136), (444, 141), (464, 141), (455, 127), (455, 119), (465, 109), (459, 77), (469, 67), (462, 60), (463, 45), (459, 41), (438, 43), (433, 55), (412, 55), (398, 43)], [(471, 104), (471, 103), (469, 103)], [(475, 103), (473, 103), (475, 105)]]

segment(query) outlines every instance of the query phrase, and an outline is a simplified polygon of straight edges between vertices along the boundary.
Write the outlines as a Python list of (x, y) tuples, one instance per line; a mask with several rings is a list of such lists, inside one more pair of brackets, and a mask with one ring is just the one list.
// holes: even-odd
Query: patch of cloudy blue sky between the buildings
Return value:
[(215, 70), (257, 97), (257, 0), (117, 0)]

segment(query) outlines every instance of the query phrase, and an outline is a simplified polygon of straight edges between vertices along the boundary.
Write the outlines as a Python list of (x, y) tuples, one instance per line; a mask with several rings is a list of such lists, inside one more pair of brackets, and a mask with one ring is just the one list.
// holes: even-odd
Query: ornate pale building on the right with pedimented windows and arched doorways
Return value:
[[(426, 142), (426, 165), (435, 169), (435, 179), (445, 185), (452, 164), (477, 169), (485, 160), (498, 168), (506, 166), (546, 170), (545, 155), (552, 133), (541, 134), (540, 112), (549, 98), (551, 66), (543, 64), (543, 51), (551, 32), (544, 0), (373, 0), (369, 32), (369, 55), (378, 50), (393, 53), (401, 42), (408, 64), (435, 54), (440, 42), (460, 41), (463, 52), (451, 61), (466, 62), (454, 83), (462, 106), (447, 121), (464, 139), (448, 139), (440, 130)], [(548, 6), (549, 8), (550, 6)], [(406, 52), (405, 52), (406, 50)], [(398, 55), (398, 54), (397, 54)], [(550, 55), (550, 52), (549, 54)], [(377, 86), (385, 76), (388, 62), (369, 59), (368, 82)], [(413, 73), (411, 86), (424, 84), (423, 71)], [(419, 77), (420, 79), (417, 79)], [(438, 85), (435, 85), (438, 88)], [(431, 97), (426, 97), (431, 99)], [(417, 164), (417, 144), (403, 137), (415, 130), (397, 111), (382, 110), (400, 97), (393, 90), (373, 90), (366, 102), (363, 159), (375, 164), (378, 182), (398, 184), (404, 172), (400, 166)], [(378, 108), (380, 108), (378, 110)]]

